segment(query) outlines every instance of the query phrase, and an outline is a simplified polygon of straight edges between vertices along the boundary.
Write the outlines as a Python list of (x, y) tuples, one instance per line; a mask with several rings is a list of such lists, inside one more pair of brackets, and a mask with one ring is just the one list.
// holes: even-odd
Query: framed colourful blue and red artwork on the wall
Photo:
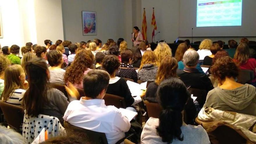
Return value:
[(83, 35), (97, 35), (96, 12), (82, 11)]

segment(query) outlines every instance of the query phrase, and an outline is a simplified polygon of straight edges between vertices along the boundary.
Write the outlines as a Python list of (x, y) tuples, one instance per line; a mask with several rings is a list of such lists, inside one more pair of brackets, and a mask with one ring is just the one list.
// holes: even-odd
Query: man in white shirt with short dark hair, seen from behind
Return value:
[(63, 116), (71, 125), (106, 134), (109, 144), (125, 137), (131, 124), (115, 106), (106, 106), (103, 100), (109, 84), (109, 74), (91, 70), (83, 79), (85, 97), (72, 101)]

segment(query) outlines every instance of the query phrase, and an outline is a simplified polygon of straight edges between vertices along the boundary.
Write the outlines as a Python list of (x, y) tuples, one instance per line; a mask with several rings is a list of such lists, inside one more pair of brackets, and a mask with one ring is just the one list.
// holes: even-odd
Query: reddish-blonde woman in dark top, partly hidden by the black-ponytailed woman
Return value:
[[(149, 102), (158, 103), (157, 101), (157, 88), (159, 84), (165, 80), (172, 77), (177, 77), (177, 61), (171, 56), (166, 56), (163, 58), (163, 61), (160, 63), (160, 66), (157, 71), (157, 77), (155, 82), (150, 83), (146, 90), (145, 100)], [(196, 108), (193, 103), (193, 99), (189, 98), (186, 107), (186, 122), (187, 124), (192, 124), (194, 118), (196, 117)]]

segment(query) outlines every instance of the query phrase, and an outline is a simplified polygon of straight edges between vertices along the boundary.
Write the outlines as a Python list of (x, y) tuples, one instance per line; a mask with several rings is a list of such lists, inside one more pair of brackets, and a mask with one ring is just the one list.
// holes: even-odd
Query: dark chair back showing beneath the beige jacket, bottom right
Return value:
[(214, 131), (208, 133), (210, 142), (217, 143), (232, 143), (240, 144), (246, 143), (246, 139), (243, 138), (237, 131), (227, 127), (225, 125), (217, 127)]

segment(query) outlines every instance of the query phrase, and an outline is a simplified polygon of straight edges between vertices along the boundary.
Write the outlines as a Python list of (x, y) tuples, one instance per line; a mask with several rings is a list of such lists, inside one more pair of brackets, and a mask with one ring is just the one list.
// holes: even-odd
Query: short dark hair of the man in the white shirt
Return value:
[(83, 78), (83, 90), (86, 97), (95, 99), (109, 86), (109, 74), (104, 70), (91, 70)]

